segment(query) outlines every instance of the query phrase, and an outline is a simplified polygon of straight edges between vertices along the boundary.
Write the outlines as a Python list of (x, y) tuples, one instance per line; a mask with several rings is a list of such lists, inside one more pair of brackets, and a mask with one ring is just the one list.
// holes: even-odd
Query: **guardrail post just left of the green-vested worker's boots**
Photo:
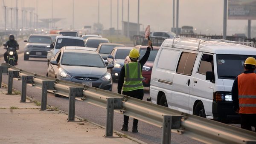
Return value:
[(123, 101), (123, 98), (107, 99), (107, 118), (106, 118), (105, 137), (113, 137), (114, 109), (122, 109), (122, 101)]

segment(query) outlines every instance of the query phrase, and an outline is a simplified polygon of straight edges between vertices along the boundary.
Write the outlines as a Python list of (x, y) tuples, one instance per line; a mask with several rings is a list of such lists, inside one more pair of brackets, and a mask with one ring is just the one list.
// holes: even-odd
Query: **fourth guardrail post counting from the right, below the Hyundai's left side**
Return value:
[(42, 97), (41, 97), (41, 109), (47, 109), (47, 90), (54, 89), (55, 81), (42, 81)]

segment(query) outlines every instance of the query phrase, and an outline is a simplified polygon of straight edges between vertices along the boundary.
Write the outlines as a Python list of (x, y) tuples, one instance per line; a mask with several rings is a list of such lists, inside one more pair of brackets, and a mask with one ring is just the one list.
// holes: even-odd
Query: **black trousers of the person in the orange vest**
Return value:
[(256, 114), (240, 114), (241, 115), (241, 128), (245, 130), (256, 130)]

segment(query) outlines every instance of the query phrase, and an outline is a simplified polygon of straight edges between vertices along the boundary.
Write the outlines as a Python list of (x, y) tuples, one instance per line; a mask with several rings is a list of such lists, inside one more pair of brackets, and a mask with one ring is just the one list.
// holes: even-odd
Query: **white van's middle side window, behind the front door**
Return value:
[(195, 53), (182, 52), (176, 72), (183, 75), (192, 75), (196, 56)]

